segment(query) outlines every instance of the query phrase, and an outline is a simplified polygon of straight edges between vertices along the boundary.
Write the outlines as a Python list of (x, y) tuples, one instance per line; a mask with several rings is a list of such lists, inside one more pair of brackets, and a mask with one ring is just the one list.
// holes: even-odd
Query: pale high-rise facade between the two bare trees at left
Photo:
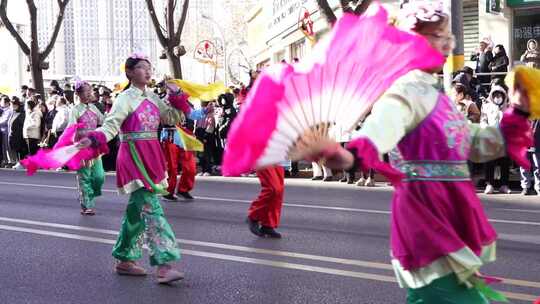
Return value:
[[(54, 0), (36, 1), (38, 40), (44, 48), (58, 14)], [(157, 38), (145, 0), (70, 1), (62, 28), (47, 61), (45, 79), (80, 77), (115, 82), (122, 64), (133, 52), (158, 60)]]

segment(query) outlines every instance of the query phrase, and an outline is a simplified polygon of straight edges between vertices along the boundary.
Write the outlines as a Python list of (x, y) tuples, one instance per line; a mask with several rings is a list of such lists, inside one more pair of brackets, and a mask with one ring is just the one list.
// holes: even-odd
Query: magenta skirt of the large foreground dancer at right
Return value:
[(405, 270), (468, 247), (480, 256), (497, 238), (472, 182), (414, 181), (392, 201), (392, 255)]

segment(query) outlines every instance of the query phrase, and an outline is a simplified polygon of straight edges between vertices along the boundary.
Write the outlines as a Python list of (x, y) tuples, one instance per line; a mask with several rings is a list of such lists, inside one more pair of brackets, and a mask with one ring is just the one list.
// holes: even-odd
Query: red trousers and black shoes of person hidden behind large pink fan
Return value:
[(281, 218), (285, 169), (282, 166), (272, 166), (259, 169), (256, 173), (262, 189), (248, 210), (249, 230), (260, 237), (279, 239), (281, 234), (275, 228), (279, 226)]

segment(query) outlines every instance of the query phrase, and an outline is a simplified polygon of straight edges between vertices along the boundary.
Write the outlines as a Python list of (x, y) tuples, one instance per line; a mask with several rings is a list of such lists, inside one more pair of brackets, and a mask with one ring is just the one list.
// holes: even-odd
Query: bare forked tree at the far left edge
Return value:
[(56, 23), (54, 25), (53, 34), (51, 40), (45, 47), (45, 50), (40, 51), (38, 44), (38, 32), (37, 32), (37, 8), (34, 0), (26, 0), (26, 5), (28, 6), (28, 13), (30, 14), (30, 47), (23, 38), (17, 32), (17, 29), (13, 26), (13, 23), (9, 20), (7, 16), (7, 4), (8, 0), (1, 0), (0, 2), (0, 19), (2, 23), (6, 26), (6, 29), (9, 31), (11, 36), (15, 38), (17, 44), (23, 51), (23, 53), (28, 56), (28, 61), (30, 62), (30, 71), (32, 73), (32, 82), (33, 85), (39, 94), (44, 96), (45, 89), (43, 87), (43, 70), (47, 69), (47, 63), (45, 59), (51, 53), (56, 43), (56, 38), (58, 38), (58, 33), (60, 32), (60, 27), (62, 26), (62, 21), (64, 20), (64, 11), (66, 6), (69, 3), (69, 0), (57, 0), (58, 3), (58, 15), (56, 16)]

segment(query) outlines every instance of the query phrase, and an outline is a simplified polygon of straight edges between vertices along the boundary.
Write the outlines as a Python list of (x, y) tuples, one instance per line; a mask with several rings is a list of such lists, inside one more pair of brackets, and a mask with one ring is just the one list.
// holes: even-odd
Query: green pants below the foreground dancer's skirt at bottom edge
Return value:
[(475, 288), (460, 284), (455, 274), (433, 281), (428, 286), (407, 290), (407, 304), (488, 304)]

